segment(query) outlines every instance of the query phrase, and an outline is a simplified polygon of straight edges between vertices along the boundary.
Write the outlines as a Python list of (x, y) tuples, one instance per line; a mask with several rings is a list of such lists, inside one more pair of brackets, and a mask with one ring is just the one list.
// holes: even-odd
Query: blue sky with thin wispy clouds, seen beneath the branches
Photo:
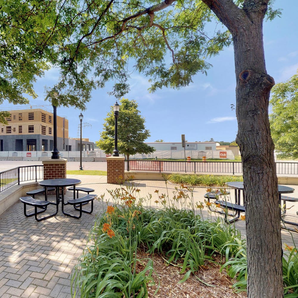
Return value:
[[(275, 83), (288, 80), (298, 68), (298, 33), (297, 33), (297, 0), (276, 0), (274, 6), (282, 8), (281, 18), (264, 22), (264, 48), (266, 68)], [(234, 52), (231, 46), (217, 57), (209, 60), (213, 65), (208, 75), (198, 74), (193, 83), (180, 90), (167, 89), (149, 93), (148, 79), (134, 72), (131, 75), (131, 90), (125, 96), (136, 100), (139, 111), (145, 117), (145, 126), (151, 137), (147, 142), (163, 139), (164, 142), (180, 142), (181, 134), (185, 134), (188, 142), (215, 141), (231, 142), (237, 134), (235, 110), (235, 68)], [(49, 71), (44, 78), (35, 84), (38, 99), (30, 100), (33, 108), (46, 108), (52, 111), (49, 102), (44, 101), (44, 86), (50, 86), (57, 79), (55, 71)], [(107, 94), (110, 86), (92, 92), (92, 99), (83, 111), (83, 138), (97, 141), (103, 130), (104, 118), (110, 106), (114, 105), (115, 97)], [(16, 109), (4, 102), (0, 109)], [(28, 108), (28, 106), (24, 107)], [(80, 110), (59, 107), (57, 114), (69, 120), (69, 137), (77, 137), (80, 123)]]

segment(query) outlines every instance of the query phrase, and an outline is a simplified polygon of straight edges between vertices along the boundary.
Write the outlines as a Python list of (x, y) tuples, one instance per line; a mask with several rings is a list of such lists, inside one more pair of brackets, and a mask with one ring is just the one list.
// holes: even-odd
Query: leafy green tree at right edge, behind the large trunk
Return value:
[(298, 70), (272, 88), (270, 128), (279, 157), (298, 158)]

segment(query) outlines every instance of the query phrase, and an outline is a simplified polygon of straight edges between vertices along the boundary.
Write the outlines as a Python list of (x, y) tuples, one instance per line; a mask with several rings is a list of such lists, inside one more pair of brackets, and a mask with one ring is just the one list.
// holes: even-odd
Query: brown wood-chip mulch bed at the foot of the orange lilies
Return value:
[[(220, 271), (220, 265), (212, 262), (205, 262), (204, 266), (195, 274), (181, 284), (178, 282), (184, 277), (179, 274), (181, 268), (175, 265), (167, 265), (166, 258), (159, 253), (149, 255), (145, 252), (138, 252), (137, 258), (153, 260), (155, 272), (152, 274), (155, 285), (148, 285), (149, 298), (244, 298), (245, 292), (235, 293), (232, 285), (235, 280), (227, 276), (226, 272)], [(218, 257), (218, 261), (220, 261)], [(146, 261), (144, 266), (146, 266)], [(144, 266), (140, 263), (136, 266), (136, 271), (142, 271)], [(202, 282), (201, 282), (201, 281)], [(207, 283), (212, 286), (208, 286)], [(157, 293), (155, 294), (157, 290)]]

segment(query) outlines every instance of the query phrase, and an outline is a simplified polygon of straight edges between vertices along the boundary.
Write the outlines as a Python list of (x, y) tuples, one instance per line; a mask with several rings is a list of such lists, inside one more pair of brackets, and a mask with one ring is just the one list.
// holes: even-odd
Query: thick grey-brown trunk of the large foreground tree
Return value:
[(232, 33), (235, 53), (236, 115), (243, 162), (248, 262), (248, 297), (283, 297), (280, 209), (268, 104), (274, 80), (267, 75), (263, 18), (267, 2), (203, 0)]

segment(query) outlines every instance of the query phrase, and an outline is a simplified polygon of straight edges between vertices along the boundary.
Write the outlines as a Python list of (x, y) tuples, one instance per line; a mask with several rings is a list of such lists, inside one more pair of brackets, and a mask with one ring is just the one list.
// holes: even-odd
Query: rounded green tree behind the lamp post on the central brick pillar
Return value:
[[(150, 137), (148, 129), (145, 129), (145, 118), (137, 109), (138, 104), (135, 100), (123, 98), (120, 100), (118, 116), (118, 150), (120, 154), (125, 154), (126, 159), (136, 153), (148, 154), (155, 151), (155, 148), (148, 146), (144, 141)], [(97, 147), (105, 153), (111, 153), (115, 144), (115, 118), (113, 107), (105, 118), (104, 130), (100, 133), (100, 140), (95, 142)]]

